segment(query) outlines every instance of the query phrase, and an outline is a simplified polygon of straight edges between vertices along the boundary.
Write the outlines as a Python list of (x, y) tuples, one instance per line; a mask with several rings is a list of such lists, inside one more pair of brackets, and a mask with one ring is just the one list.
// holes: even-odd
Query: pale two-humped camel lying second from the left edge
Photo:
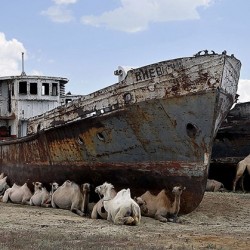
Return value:
[(7, 203), (9, 200), (13, 203), (29, 205), (30, 198), (32, 193), (27, 186), (27, 183), (24, 183), (22, 186), (14, 183), (11, 188), (8, 188), (3, 195), (2, 201)]

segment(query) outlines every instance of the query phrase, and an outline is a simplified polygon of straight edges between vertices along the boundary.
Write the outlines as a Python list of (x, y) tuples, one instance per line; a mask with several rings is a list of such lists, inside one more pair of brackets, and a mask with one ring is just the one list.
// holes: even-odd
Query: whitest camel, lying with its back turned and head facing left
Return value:
[(107, 220), (117, 225), (139, 225), (141, 210), (131, 198), (130, 189), (122, 189), (113, 197), (114, 186), (104, 182), (95, 192), (103, 196), (103, 205), (108, 213)]

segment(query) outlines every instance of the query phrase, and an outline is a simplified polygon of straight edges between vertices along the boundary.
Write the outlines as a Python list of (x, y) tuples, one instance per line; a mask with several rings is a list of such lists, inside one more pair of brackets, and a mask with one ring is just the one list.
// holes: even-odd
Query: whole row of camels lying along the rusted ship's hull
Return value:
[(66, 180), (61, 186), (56, 182), (51, 183), (51, 191), (41, 182), (33, 182), (34, 192), (27, 183), (22, 186), (13, 184), (9, 187), (7, 176), (0, 175), (0, 197), (2, 202), (12, 202), (24, 205), (52, 207), (70, 210), (80, 216), (88, 216), (91, 219), (105, 219), (117, 225), (139, 225), (141, 216), (155, 218), (161, 222), (177, 222), (180, 210), (180, 199), (184, 187), (173, 187), (175, 196), (173, 202), (163, 189), (158, 195), (149, 191), (140, 197), (131, 198), (130, 189), (122, 189), (119, 192), (111, 183), (103, 183), (95, 188), (100, 200), (94, 204), (90, 211), (89, 196), (90, 184), (78, 185)]

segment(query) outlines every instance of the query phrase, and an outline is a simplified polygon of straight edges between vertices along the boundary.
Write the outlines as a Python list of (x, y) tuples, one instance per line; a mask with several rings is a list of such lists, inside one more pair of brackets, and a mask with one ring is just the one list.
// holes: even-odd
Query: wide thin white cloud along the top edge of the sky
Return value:
[(100, 16), (83, 16), (81, 22), (124, 32), (146, 30), (150, 23), (199, 19), (198, 7), (214, 0), (120, 0), (121, 6)]

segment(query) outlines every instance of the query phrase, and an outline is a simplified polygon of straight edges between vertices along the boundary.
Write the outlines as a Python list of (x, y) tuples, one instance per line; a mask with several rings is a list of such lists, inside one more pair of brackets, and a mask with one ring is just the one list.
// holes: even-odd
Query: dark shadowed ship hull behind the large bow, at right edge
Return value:
[[(237, 103), (222, 122), (212, 149), (209, 175), (232, 189), (236, 165), (250, 153), (250, 102)], [(247, 179), (248, 178), (248, 179)], [(245, 178), (250, 190), (249, 177)]]

